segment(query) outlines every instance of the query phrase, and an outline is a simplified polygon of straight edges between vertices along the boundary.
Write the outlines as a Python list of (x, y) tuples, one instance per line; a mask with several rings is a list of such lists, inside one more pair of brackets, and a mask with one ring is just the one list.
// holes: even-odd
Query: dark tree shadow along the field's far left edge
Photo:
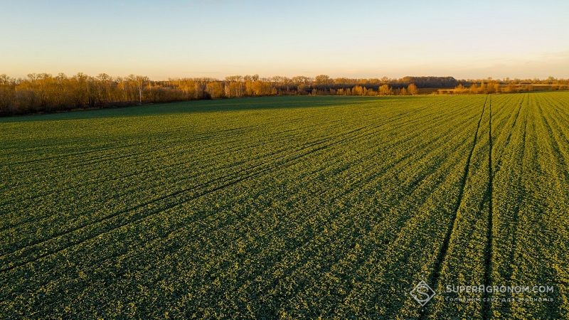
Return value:
[(116, 107), (97, 110), (75, 110), (53, 114), (31, 114), (0, 117), (0, 122), (26, 122), (42, 120), (87, 119), (101, 117), (137, 117), (153, 114), (184, 114), (191, 112), (230, 112), (240, 110), (295, 109), (307, 107), (332, 107), (352, 103), (388, 101), (418, 97), (343, 97), (343, 96), (282, 96), (242, 97), (219, 100), (193, 100), (131, 107)]

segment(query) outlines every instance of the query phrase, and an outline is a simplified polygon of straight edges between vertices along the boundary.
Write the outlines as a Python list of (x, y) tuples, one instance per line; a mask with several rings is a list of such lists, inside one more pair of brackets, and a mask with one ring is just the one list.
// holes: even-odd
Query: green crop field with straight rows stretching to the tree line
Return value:
[(0, 318), (569, 319), (568, 168), (569, 92), (3, 118)]

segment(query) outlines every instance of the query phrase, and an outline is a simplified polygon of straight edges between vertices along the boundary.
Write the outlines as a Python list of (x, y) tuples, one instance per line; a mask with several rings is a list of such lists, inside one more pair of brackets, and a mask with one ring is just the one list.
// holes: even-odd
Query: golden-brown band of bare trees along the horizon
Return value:
[(0, 115), (58, 112), (85, 108), (117, 107), (143, 103), (259, 97), (268, 95), (418, 95), (460, 94), (533, 90), (568, 90), (569, 80), (456, 80), (452, 77), (404, 77), (400, 79), (314, 78), (233, 75), (224, 80), (183, 78), (150, 80), (140, 75), (113, 78), (78, 73), (31, 74), (28, 78), (0, 75)]

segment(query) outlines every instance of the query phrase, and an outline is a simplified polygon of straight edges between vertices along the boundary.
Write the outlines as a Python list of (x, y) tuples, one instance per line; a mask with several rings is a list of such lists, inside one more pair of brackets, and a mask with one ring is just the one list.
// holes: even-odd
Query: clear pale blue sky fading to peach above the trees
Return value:
[(569, 1), (0, 0), (0, 74), (569, 78)]

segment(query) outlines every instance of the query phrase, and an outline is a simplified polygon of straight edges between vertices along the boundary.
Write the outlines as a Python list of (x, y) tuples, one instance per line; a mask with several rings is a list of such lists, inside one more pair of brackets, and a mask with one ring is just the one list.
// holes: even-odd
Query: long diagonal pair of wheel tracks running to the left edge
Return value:
[[(390, 118), (388, 121), (382, 122), (381, 124), (378, 124), (378, 126), (373, 127), (373, 128), (371, 128), (371, 129), (368, 129), (367, 131), (364, 131), (364, 132), (369, 132), (370, 130), (373, 130), (373, 129), (377, 128), (377, 127), (382, 127), (383, 125), (389, 123), (390, 121), (392, 121), (392, 120), (394, 121), (395, 119), (393, 119), (393, 118), (400, 119), (400, 118), (404, 117), (406, 114), (408, 114), (408, 113), (410, 113), (410, 112), (413, 112), (413, 111), (415, 111), (415, 110), (409, 110), (409, 111), (407, 111), (407, 112), (400, 113), (400, 114), (396, 115), (395, 117)], [(328, 138), (328, 139), (325, 139), (323, 142), (319, 142), (319, 143), (313, 144), (313, 145), (311, 145), (311, 146), (302, 147), (302, 149), (299, 149), (298, 151), (301, 151), (301, 152), (302, 152), (302, 150), (304, 150), (304, 149), (308, 149), (308, 148), (311, 148), (312, 146), (317, 146), (318, 144), (323, 144), (323, 143), (325, 143), (325, 142), (329, 142), (329, 141), (332, 140), (332, 139), (335, 139), (335, 138), (338, 138), (338, 137), (342, 137), (342, 139), (340, 139), (339, 141), (332, 142), (331, 144), (325, 144), (324, 146), (319, 146), (319, 147), (317, 147), (316, 149), (312, 149), (312, 150), (307, 151), (307, 152), (304, 152), (304, 153), (302, 153), (302, 154), (300, 154), (300, 155), (295, 155), (295, 156), (292, 157), (292, 159), (286, 159), (285, 161), (283, 161), (282, 163), (277, 164), (277, 165), (278, 165), (278, 166), (281, 166), (281, 165), (283, 165), (283, 164), (287, 164), (287, 163), (289, 163), (289, 162), (291, 162), (291, 161), (294, 161), (294, 160), (300, 159), (300, 158), (302, 158), (302, 157), (304, 157), (304, 156), (307, 156), (308, 154), (312, 154), (313, 152), (316, 152), (316, 151), (319, 151), (319, 150), (321, 150), (321, 149), (325, 149), (325, 148), (327, 148), (327, 147), (329, 147), (329, 146), (333, 146), (333, 145), (335, 145), (335, 144), (339, 144), (339, 143), (341, 143), (341, 142), (344, 142), (344, 141), (346, 141), (346, 140), (348, 139), (348, 137), (346, 137), (346, 135), (353, 134), (353, 133), (355, 133), (355, 132), (361, 132), (362, 130), (367, 129), (367, 128), (369, 128), (369, 127), (372, 127), (372, 124), (368, 124), (368, 125), (366, 125), (366, 126), (363, 126), (363, 127), (358, 128), (358, 129), (353, 129), (353, 130), (351, 130), (350, 132), (345, 132), (345, 133), (342, 133), (342, 134), (336, 134), (334, 137), (330, 137), (330, 138)], [(359, 134), (361, 134), (361, 133), (359, 133)], [(368, 133), (368, 134), (369, 134), (369, 133)], [(352, 137), (352, 139), (353, 139), (353, 137)], [(276, 161), (276, 160), (285, 158), (286, 156), (289, 156), (289, 154), (285, 154), (285, 155), (279, 156), (279, 157), (277, 157), (277, 159), (274, 159), (274, 160)], [(255, 165), (255, 166), (252, 166), (252, 167), (248, 168), (248, 170), (251, 171), (251, 169), (255, 169), (256, 167), (262, 166), (262, 165), (264, 165), (264, 164), (265, 164), (265, 163), (257, 164), (257, 165)], [(265, 165), (266, 165), (266, 164), (265, 164)], [(48, 255), (53, 255), (53, 254), (55, 254), (55, 253), (57, 253), (57, 252), (60, 252), (60, 251), (65, 250), (66, 248), (68, 248), (68, 247), (70, 247), (70, 246), (79, 245), (79, 244), (82, 243), (82, 242), (85, 242), (85, 241), (87, 241), (87, 240), (90, 240), (90, 239), (92, 239), (92, 238), (95, 238), (95, 237), (97, 237), (97, 236), (100, 236), (100, 235), (102, 235), (102, 234), (110, 233), (112, 230), (114, 230), (114, 229), (116, 229), (116, 228), (121, 228), (122, 226), (127, 225), (127, 224), (129, 224), (129, 223), (135, 223), (135, 222), (137, 222), (138, 220), (141, 220), (141, 219), (143, 219), (143, 218), (147, 218), (147, 217), (150, 216), (150, 215), (154, 215), (154, 214), (159, 213), (159, 212), (161, 212), (161, 211), (163, 211), (163, 210), (167, 210), (167, 209), (169, 209), (169, 208), (173, 208), (174, 206), (178, 206), (178, 205), (181, 204), (181, 203), (184, 203), (184, 202), (187, 202), (187, 201), (191, 201), (191, 200), (194, 200), (194, 199), (196, 199), (196, 198), (200, 198), (201, 196), (206, 196), (206, 195), (209, 194), (209, 193), (213, 193), (213, 192), (215, 192), (215, 191), (219, 191), (219, 190), (222, 189), (222, 188), (226, 188), (226, 187), (228, 187), (228, 186), (232, 186), (232, 185), (234, 185), (235, 183), (239, 183), (240, 181), (244, 181), (244, 180), (246, 180), (246, 179), (248, 179), (248, 178), (252, 178), (253, 176), (258, 176), (258, 175), (260, 175), (260, 174), (264, 174), (265, 172), (270, 171), (270, 170), (272, 170), (272, 169), (274, 169), (274, 166), (268, 166), (267, 168), (262, 169), (262, 170), (260, 170), (260, 171), (253, 172), (252, 174), (249, 173), (249, 174), (245, 175), (244, 177), (240, 177), (240, 178), (233, 179), (233, 180), (230, 178), (230, 179), (228, 179), (229, 181), (223, 181), (223, 183), (221, 184), (221, 186), (216, 186), (216, 187), (213, 187), (213, 188), (208, 188), (208, 190), (198, 192), (198, 193), (196, 193), (196, 195), (193, 195), (193, 196), (191, 196), (191, 197), (188, 198), (188, 199), (184, 199), (183, 201), (174, 201), (173, 204), (169, 204), (169, 205), (167, 205), (165, 208), (160, 207), (158, 210), (151, 210), (151, 213), (149, 213), (149, 214), (137, 214), (137, 216), (138, 216), (138, 215), (140, 215), (140, 216), (137, 217), (137, 218), (134, 218), (134, 220), (129, 221), (128, 223), (124, 223), (124, 224), (119, 223), (119, 225), (114, 225), (114, 226), (112, 226), (112, 228), (110, 228), (110, 229), (105, 228), (105, 230), (102, 231), (102, 233), (95, 233), (95, 235), (90, 235), (89, 237), (87, 237), (87, 238), (85, 238), (85, 239), (81, 239), (81, 240), (71, 240), (70, 243), (68, 243), (68, 245), (66, 245), (65, 247), (60, 247), (60, 248), (58, 248), (58, 249), (56, 249), (56, 250), (51, 250), (51, 251), (49, 251), (49, 252), (44, 252), (44, 253), (42, 253), (41, 255), (38, 255), (37, 257), (34, 257), (33, 259), (27, 260), (27, 261), (25, 261), (25, 262), (18, 262), (17, 264), (11, 265), (11, 266), (9, 266), (9, 267), (4, 267), (4, 268), (2, 268), (2, 269), (0, 270), (0, 272), (6, 272), (6, 271), (9, 271), (9, 270), (13, 270), (14, 268), (19, 267), (19, 266), (21, 266), (21, 265), (25, 265), (26, 263), (34, 262), (34, 261), (39, 260), (39, 259), (41, 259), (41, 258), (43, 258), (43, 257), (47, 257)], [(137, 206), (134, 206), (134, 207), (132, 207), (132, 208), (129, 208), (129, 209), (126, 209), (126, 210), (120, 210), (120, 211), (117, 212), (117, 213), (112, 213), (112, 215), (107, 215), (107, 216), (105, 216), (105, 217), (102, 217), (102, 218), (97, 219), (97, 220), (95, 220), (95, 221), (92, 221), (92, 222), (90, 222), (90, 223), (86, 223), (86, 224), (83, 224), (83, 225), (79, 225), (79, 226), (77, 226), (77, 227), (75, 227), (75, 228), (72, 228), (72, 229), (70, 229), (70, 230), (65, 230), (65, 232), (61, 232), (61, 233), (55, 234), (55, 235), (53, 235), (53, 236), (52, 236), (51, 238), (49, 238), (49, 239), (42, 240), (42, 241), (32, 242), (31, 244), (26, 245), (26, 247), (21, 247), (21, 248), (19, 248), (19, 249), (17, 249), (17, 250), (13, 250), (13, 251), (11, 251), (11, 252), (7, 252), (6, 254), (1, 255), (1, 256), (0, 256), (0, 259), (1, 259), (1, 260), (4, 260), (4, 258), (5, 258), (6, 256), (13, 255), (15, 252), (19, 252), (19, 251), (21, 251), (21, 250), (26, 250), (26, 248), (28, 248), (28, 247), (32, 247), (32, 246), (36, 246), (36, 245), (41, 245), (41, 243), (46, 242), (46, 241), (50, 241), (50, 240), (55, 240), (55, 238), (61, 238), (61, 237), (65, 236), (65, 235), (69, 235), (70, 233), (75, 233), (75, 232), (78, 231), (78, 230), (81, 230), (81, 229), (83, 229), (83, 228), (87, 228), (87, 227), (89, 227), (89, 226), (91, 226), (91, 225), (93, 225), (93, 224), (103, 223), (105, 220), (109, 220), (109, 219), (115, 218), (115, 217), (117, 217), (117, 215), (120, 215), (120, 214), (122, 214), (122, 213), (127, 213), (127, 212), (132, 211), (132, 210), (137, 210), (137, 209), (139, 209), (139, 208), (143, 208), (143, 207), (145, 207), (145, 206), (149, 206), (149, 205), (151, 205), (152, 203), (155, 203), (156, 201), (161, 201), (161, 200), (164, 200), (164, 199), (166, 199), (166, 198), (171, 198), (171, 197), (173, 197), (173, 196), (178, 196), (178, 195), (181, 194), (181, 193), (185, 193), (185, 192), (188, 192), (188, 191), (196, 190), (196, 189), (198, 189), (198, 188), (201, 188), (201, 187), (203, 187), (203, 186), (207, 186), (208, 184), (211, 184), (211, 183), (213, 183), (213, 182), (216, 182), (216, 181), (218, 181), (218, 180), (220, 180), (220, 179), (221, 179), (221, 178), (216, 178), (216, 179), (214, 179), (214, 181), (208, 181), (208, 183), (202, 183), (202, 184), (199, 185), (199, 186), (193, 186), (193, 187), (191, 187), (191, 188), (184, 188), (183, 190), (176, 191), (176, 192), (174, 192), (174, 193), (169, 193), (169, 194), (166, 195), (166, 196), (161, 196), (161, 197), (159, 197), (159, 198), (156, 198), (156, 199), (154, 199), (153, 201), (146, 201), (145, 203), (141, 203), (141, 204), (139, 204), (139, 205), (137, 205)], [(107, 229), (108, 229), (108, 230), (107, 230)]]

